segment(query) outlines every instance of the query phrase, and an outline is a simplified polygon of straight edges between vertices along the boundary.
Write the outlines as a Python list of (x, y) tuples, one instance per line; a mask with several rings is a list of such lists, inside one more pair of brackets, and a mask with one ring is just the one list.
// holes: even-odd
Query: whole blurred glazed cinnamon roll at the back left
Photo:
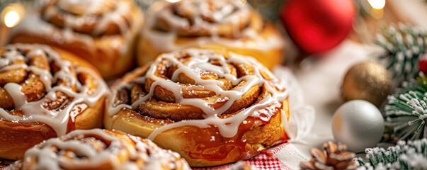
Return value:
[(132, 0), (48, 0), (11, 30), (10, 42), (62, 48), (111, 78), (132, 68), (142, 20)]

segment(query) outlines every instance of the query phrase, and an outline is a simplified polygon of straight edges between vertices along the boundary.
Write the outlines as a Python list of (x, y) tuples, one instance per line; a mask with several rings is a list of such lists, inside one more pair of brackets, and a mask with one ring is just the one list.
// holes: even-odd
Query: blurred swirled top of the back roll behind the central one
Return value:
[(240, 1), (188, 0), (166, 6), (156, 16), (156, 29), (181, 36), (220, 35), (234, 38), (247, 27), (261, 30), (261, 17)]

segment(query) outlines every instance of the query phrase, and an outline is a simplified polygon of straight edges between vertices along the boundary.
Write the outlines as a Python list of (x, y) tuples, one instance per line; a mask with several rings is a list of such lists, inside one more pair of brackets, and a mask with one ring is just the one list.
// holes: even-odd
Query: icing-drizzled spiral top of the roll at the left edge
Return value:
[(45, 123), (64, 135), (75, 129), (76, 116), (106, 94), (89, 64), (48, 46), (8, 45), (0, 54), (1, 121)]

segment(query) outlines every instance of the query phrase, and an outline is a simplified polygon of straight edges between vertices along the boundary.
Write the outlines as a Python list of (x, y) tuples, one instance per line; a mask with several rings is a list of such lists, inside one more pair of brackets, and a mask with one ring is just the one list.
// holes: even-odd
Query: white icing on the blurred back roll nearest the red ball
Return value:
[[(207, 1), (212, 0), (193, 0), (196, 1), (198, 6), (192, 6), (191, 8), (194, 11), (194, 16), (191, 19), (195, 21), (194, 25), (198, 28), (203, 28), (209, 30), (211, 33), (210, 36), (200, 36), (193, 38), (193, 40), (188, 40), (188, 42), (177, 44), (176, 40), (180, 35), (176, 33), (178, 28), (186, 28), (190, 26), (190, 23), (187, 18), (181, 18), (176, 16), (173, 13), (173, 8), (168, 8), (169, 4), (166, 4), (164, 8), (161, 8), (159, 11), (152, 11), (148, 13), (147, 22), (144, 25), (142, 35), (144, 39), (147, 39), (155, 47), (156, 50), (161, 52), (171, 52), (175, 50), (181, 50), (188, 47), (197, 47), (203, 46), (205, 44), (216, 42), (221, 45), (226, 45), (227, 47), (236, 47), (236, 48), (245, 48), (245, 49), (255, 49), (255, 50), (271, 50), (271, 49), (280, 49), (283, 47), (283, 40), (279, 36), (271, 35), (266, 38), (263, 38), (259, 35), (256, 30), (253, 28), (247, 27), (244, 30), (233, 30), (234, 35), (241, 35), (244, 39), (249, 38), (250, 40), (236, 40), (230, 38), (222, 38), (217, 35), (216, 27), (212, 26), (213, 24), (223, 24), (223, 23), (239, 23), (242, 18), (249, 17), (252, 10), (251, 6), (248, 3), (243, 6), (239, 4), (239, 1), (229, 1), (227, 6), (224, 6), (219, 11), (210, 11), (205, 10)], [(186, 3), (187, 1), (180, 1), (178, 3)], [(214, 1), (213, 3), (224, 3), (224, 1)], [(227, 2), (226, 2), (227, 3)], [(185, 6), (185, 5), (183, 5)], [(188, 7), (190, 8), (190, 7)], [(232, 11), (231, 9), (234, 9)], [(208, 13), (206, 13), (206, 11)], [(207, 15), (215, 18), (216, 23), (209, 23), (202, 21), (200, 16)], [(166, 22), (169, 26), (172, 26), (171, 30), (168, 32), (159, 31), (154, 29), (156, 27), (157, 18), (166, 18)]]

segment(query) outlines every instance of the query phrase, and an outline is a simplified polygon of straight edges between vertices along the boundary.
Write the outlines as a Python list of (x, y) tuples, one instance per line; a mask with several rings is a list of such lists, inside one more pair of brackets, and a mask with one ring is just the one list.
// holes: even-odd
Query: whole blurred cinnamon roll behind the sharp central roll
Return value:
[[(183, 0), (152, 5), (138, 45), (140, 65), (163, 52), (198, 47), (255, 57), (271, 69), (283, 57), (283, 40), (249, 4), (228, 0)], [(160, 8), (160, 9), (158, 9)], [(150, 11), (149, 11), (150, 12)]]

